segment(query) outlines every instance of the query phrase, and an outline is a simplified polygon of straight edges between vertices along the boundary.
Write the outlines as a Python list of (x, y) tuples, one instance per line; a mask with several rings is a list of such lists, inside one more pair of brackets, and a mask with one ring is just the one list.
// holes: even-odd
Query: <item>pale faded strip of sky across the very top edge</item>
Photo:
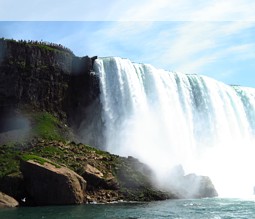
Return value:
[[(15, 6), (15, 7), (14, 7)], [(1, 0), (1, 20), (255, 20), (253, 0)]]

